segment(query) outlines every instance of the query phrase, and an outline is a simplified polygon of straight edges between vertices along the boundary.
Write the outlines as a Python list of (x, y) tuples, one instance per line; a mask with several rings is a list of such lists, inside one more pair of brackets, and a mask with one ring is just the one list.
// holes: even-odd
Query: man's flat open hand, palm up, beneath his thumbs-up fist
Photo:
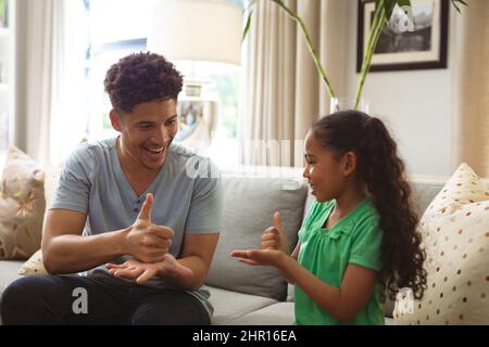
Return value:
[(136, 279), (137, 283), (145, 283), (155, 275), (172, 274), (176, 277), (188, 278), (193, 274), (189, 268), (179, 265), (171, 254), (165, 254), (163, 261), (141, 262), (136, 259), (127, 260), (121, 265), (106, 264), (109, 273), (116, 278), (128, 280)]

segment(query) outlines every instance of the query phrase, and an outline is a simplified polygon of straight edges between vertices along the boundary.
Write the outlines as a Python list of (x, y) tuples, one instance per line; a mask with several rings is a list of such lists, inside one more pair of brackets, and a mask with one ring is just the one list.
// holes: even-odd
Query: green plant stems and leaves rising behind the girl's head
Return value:
[[(243, 29), (243, 35), (242, 35), (243, 40), (250, 29), (251, 16), (253, 13), (252, 7), (256, 3), (256, 1), (258, 0), (252, 0), (250, 2), (248, 18), (247, 18), (244, 29)], [(314, 65), (316, 66), (317, 73), (319, 74), (321, 79), (323, 80), (323, 82), (326, 87), (328, 95), (331, 99), (336, 98), (335, 91), (326, 76), (326, 72), (323, 67), (323, 64), (321, 64), (317, 52), (315, 51), (315, 49), (311, 42), (311, 38), (309, 35), (308, 28), (306, 28), (304, 22), (302, 21), (302, 18), (296, 12), (290, 10), (284, 3), (284, 1), (281, 1), (281, 0), (269, 0), (269, 1), (275, 2), (278, 7), (280, 7), (280, 9), (286, 11), (287, 14), (293, 21), (297, 22), (297, 24), (299, 25), (299, 27), (302, 31), (302, 35), (304, 36), (309, 52), (311, 53), (311, 56), (314, 61)], [(459, 13), (460, 13), (460, 8), (459, 8), (460, 4), (467, 5), (465, 3), (465, 1), (463, 1), (463, 0), (451, 0), (451, 2)], [(372, 56), (374, 55), (375, 48), (377, 47), (378, 38), (380, 37), (384, 26), (390, 20), (391, 15), (392, 15), (392, 11), (396, 8), (396, 5), (399, 5), (401, 9), (403, 9), (404, 12), (411, 13), (411, 1), (410, 0), (375, 0), (374, 20), (372, 23), (371, 31), (368, 34), (367, 46), (365, 48), (365, 52), (363, 55), (362, 68), (361, 68), (360, 78), (359, 78), (359, 85), (358, 85), (356, 93), (355, 93), (355, 98), (354, 98), (354, 105), (353, 105), (354, 108), (358, 108), (358, 106), (359, 106), (359, 102), (360, 102), (362, 91), (363, 91), (363, 86), (365, 85), (366, 75), (368, 74), (368, 70), (371, 68)]]

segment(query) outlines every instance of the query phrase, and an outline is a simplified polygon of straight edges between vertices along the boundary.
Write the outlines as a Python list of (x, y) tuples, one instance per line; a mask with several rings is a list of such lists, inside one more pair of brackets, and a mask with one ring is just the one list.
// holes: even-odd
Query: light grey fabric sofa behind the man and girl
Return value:
[[(312, 197), (300, 169), (247, 169), (223, 174), (224, 220), (216, 253), (206, 284), (214, 306), (213, 324), (293, 323), (293, 287), (276, 269), (250, 267), (229, 257), (237, 248), (260, 246), (263, 230), (272, 224), (275, 210), (281, 213), (290, 247), (297, 242), (297, 231)], [(428, 206), (443, 187), (443, 179), (410, 180), (416, 208)], [(24, 261), (0, 261), (0, 295), (15, 279)], [(1, 303), (0, 303), (1, 305)], [(392, 323), (392, 303), (386, 303), (386, 323)]]

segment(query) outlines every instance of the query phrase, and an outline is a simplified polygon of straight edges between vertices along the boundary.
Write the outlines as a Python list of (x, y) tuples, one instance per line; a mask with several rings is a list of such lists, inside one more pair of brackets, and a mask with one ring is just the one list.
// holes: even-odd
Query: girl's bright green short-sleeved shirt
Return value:
[[(315, 202), (299, 231), (299, 264), (325, 283), (339, 287), (349, 264), (379, 271), (383, 232), (369, 200), (361, 202), (330, 230), (323, 228), (336, 201)], [(347, 324), (384, 324), (381, 286)], [(315, 304), (296, 285), (296, 324), (344, 324)]]

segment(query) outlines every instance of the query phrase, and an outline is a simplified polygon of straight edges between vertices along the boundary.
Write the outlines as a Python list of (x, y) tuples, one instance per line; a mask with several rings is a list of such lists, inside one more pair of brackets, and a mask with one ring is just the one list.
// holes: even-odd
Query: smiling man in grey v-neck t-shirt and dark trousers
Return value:
[[(67, 159), (43, 227), (50, 275), (5, 290), (3, 323), (209, 324), (203, 282), (222, 187), (209, 160), (172, 143), (181, 76), (163, 56), (138, 53), (104, 85), (120, 136)], [(188, 175), (196, 168), (204, 175)]]

